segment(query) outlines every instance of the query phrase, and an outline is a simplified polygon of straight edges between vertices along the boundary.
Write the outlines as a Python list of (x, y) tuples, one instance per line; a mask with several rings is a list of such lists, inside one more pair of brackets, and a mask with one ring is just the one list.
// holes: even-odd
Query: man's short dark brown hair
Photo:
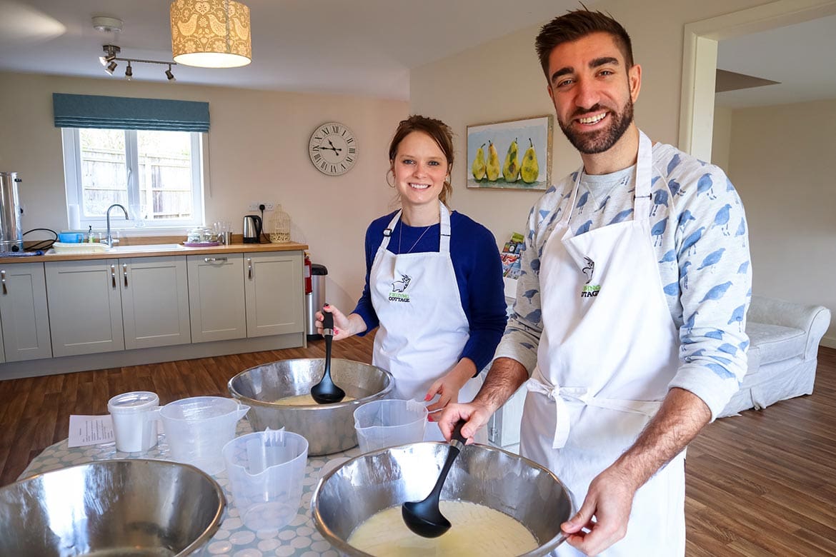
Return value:
[(621, 23), (606, 13), (588, 9), (573, 10), (543, 25), (534, 42), (546, 79), (551, 79), (548, 75), (548, 56), (552, 50), (560, 44), (576, 41), (592, 33), (609, 33), (624, 56), (627, 69), (633, 67), (633, 45)]

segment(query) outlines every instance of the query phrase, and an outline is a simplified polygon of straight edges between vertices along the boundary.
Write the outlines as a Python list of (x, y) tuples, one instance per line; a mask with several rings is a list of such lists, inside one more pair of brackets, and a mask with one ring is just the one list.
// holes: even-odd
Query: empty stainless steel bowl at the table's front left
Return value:
[(226, 505), (217, 482), (188, 464), (79, 464), (0, 488), (0, 555), (188, 555)]

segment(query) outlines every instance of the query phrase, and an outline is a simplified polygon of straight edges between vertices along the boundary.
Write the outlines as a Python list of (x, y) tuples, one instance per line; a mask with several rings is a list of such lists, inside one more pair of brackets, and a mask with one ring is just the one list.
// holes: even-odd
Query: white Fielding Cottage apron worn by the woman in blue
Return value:
[[(438, 252), (395, 256), (386, 249), (399, 210), (384, 231), (372, 263), (369, 286), (380, 328), (375, 335), (372, 363), (395, 377), (394, 398), (422, 403), (433, 382), (459, 362), (470, 338), (470, 325), (461, 308), (456, 272), (450, 259), (450, 211), (441, 206)], [(482, 374), (466, 382), (459, 403), (469, 403), (482, 387)], [(455, 402), (455, 401), (454, 401)], [(435, 422), (427, 423), (426, 441), (443, 441)], [(477, 435), (487, 443), (487, 432)]]

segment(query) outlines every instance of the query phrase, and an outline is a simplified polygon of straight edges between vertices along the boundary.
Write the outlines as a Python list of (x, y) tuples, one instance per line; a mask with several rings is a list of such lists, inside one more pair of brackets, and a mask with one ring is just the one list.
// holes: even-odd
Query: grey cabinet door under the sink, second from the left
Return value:
[(119, 260), (55, 261), (44, 268), (54, 356), (124, 350)]

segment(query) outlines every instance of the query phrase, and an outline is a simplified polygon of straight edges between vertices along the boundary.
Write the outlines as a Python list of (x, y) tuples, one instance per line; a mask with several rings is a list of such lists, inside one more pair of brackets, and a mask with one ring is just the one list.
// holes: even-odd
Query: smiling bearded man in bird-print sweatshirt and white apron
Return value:
[(580, 504), (558, 554), (683, 555), (686, 445), (747, 367), (743, 208), (720, 169), (636, 127), (641, 68), (618, 22), (570, 12), (537, 50), (583, 166), (534, 205), (491, 371), (441, 429), (465, 419), (472, 438), (526, 382), (520, 452)]

